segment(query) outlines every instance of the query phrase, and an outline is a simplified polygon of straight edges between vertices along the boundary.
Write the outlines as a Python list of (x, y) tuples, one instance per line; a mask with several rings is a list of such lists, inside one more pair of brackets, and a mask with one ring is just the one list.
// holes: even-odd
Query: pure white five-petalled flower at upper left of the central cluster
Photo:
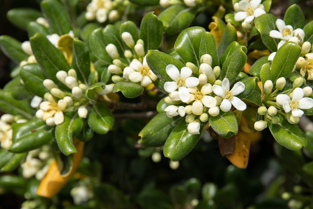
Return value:
[(198, 86), (199, 79), (190, 77), (192, 70), (189, 67), (183, 67), (181, 72), (179, 72), (175, 65), (167, 65), (166, 72), (173, 81), (168, 81), (164, 84), (165, 91), (171, 93), (178, 88), (180, 100), (182, 100), (182, 102), (189, 102), (190, 94), (187, 87), (191, 88)]

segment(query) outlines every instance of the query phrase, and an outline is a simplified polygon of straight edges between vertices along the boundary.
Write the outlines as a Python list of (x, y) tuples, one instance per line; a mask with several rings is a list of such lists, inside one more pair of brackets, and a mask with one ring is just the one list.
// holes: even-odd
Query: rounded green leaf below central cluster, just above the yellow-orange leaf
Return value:
[(209, 116), (213, 130), (224, 138), (229, 138), (238, 133), (238, 122), (233, 112), (220, 111), (218, 116)]

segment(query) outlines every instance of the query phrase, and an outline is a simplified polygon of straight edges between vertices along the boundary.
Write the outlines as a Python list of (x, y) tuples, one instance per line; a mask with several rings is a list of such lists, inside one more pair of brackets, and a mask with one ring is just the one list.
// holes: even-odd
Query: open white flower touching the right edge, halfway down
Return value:
[(293, 116), (301, 117), (304, 113), (302, 110), (310, 109), (313, 107), (313, 99), (303, 96), (303, 89), (295, 88), (292, 93), (292, 100), (290, 100), (290, 97), (287, 94), (280, 94), (276, 97), (276, 102), (280, 106), (283, 106), (286, 113), (291, 111)]

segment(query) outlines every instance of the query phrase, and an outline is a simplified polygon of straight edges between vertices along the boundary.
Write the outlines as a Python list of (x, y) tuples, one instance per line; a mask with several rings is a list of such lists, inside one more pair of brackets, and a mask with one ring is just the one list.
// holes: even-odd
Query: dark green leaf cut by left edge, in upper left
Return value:
[(28, 56), (21, 47), (21, 42), (10, 36), (0, 36), (0, 48), (3, 53), (11, 60), (19, 64), (23, 60), (27, 60)]

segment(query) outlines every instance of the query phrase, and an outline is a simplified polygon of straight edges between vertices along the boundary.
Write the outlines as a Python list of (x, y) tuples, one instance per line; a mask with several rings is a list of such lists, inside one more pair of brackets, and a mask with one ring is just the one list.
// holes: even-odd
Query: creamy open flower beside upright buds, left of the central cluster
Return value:
[(137, 59), (133, 59), (129, 67), (126, 67), (123, 71), (123, 78), (129, 79), (131, 82), (141, 82), (141, 86), (149, 86), (152, 81), (157, 79), (156, 75), (150, 70), (146, 56), (141, 63)]

